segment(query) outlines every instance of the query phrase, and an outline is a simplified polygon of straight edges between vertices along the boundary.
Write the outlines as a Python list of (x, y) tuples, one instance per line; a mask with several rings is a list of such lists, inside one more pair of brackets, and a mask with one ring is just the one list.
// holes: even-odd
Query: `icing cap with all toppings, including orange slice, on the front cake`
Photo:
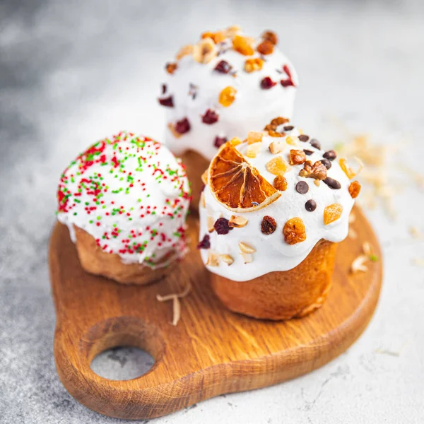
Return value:
[(360, 184), (333, 150), (276, 118), (220, 147), (204, 174), (199, 249), (208, 269), (247, 281), (300, 264), (319, 240), (341, 242)]

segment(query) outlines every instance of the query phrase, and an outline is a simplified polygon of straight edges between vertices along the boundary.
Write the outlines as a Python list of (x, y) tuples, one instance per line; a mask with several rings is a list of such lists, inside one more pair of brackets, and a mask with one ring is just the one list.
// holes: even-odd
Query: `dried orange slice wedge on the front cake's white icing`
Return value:
[(281, 196), (232, 146), (225, 143), (209, 166), (209, 187), (230, 211), (257, 211)]

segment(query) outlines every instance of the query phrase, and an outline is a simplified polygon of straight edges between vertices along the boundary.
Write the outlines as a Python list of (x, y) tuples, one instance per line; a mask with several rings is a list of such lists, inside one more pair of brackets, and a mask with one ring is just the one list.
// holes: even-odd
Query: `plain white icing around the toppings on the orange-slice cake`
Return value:
[[(288, 125), (288, 124), (285, 124)], [(278, 128), (279, 129), (279, 128)], [(298, 129), (286, 132), (288, 136), (298, 136)], [(307, 160), (314, 163), (317, 160), (322, 160), (324, 150), (318, 150), (310, 145), (310, 142), (302, 142), (295, 138), (295, 146), (287, 145), (281, 153), (273, 155), (269, 151), (269, 144), (273, 141), (285, 140), (284, 138), (276, 138), (264, 136), (261, 143), (261, 149), (256, 158), (245, 159), (257, 168), (259, 173), (271, 184), (275, 175), (266, 170), (266, 163), (277, 155), (281, 155), (288, 162), (288, 153), (290, 149), (307, 149), (314, 151), (312, 155), (307, 156)], [(247, 143), (242, 143), (237, 146), (240, 153), (245, 153)], [(223, 204), (221, 204), (212, 194), (208, 184), (204, 189), (204, 199), (206, 207), (199, 206), (200, 214), (200, 232), (199, 240), (202, 240), (204, 235), (210, 235), (211, 249), (219, 254), (229, 254), (234, 262), (231, 265), (220, 261), (218, 266), (206, 266), (209, 271), (216, 273), (232, 281), (248, 281), (252, 278), (257, 278), (271, 271), (287, 271), (293, 269), (300, 264), (316, 243), (321, 240), (329, 240), (331, 242), (341, 242), (348, 235), (348, 217), (353, 207), (354, 200), (348, 192), (350, 180), (341, 170), (338, 164), (338, 158), (333, 160), (331, 168), (327, 170), (327, 176), (336, 179), (341, 184), (341, 189), (331, 189), (324, 182), (320, 182), (319, 187), (314, 184), (313, 178), (303, 178), (299, 176), (299, 171), (303, 165), (294, 165), (290, 167), (284, 177), (288, 182), (288, 187), (281, 196), (269, 206), (247, 213), (235, 213)], [(309, 185), (307, 194), (299, 194), (295, 190), (295, 185), (299, 181), (305, 181)], [(305, 208), (307, 200), (313, 199), (317, 202), (315, 211), (309, 212)], [(343, 213), (341, 217), (324, 225), (324, 208), (331, 204), (341, 204)], [(226, 235), (218, 235), (216, 231), (208, 232), (207, 217), (213, 217), (213, 222), (216, 219), (223, 217), (230, 219), (232, 215), (240, 215), (247, 218), (248, 223), (243, 228), (233, 228)], [(270, 235), (264, 235), (261, 232), (261, 221), (264, 216), (271, 216), (276, 220), (276, 230)], [(299, 217), (305, 224), (307, 238), (303, 242), (295, 245), (288, 245), (284, 241), (283, 227), (290, 219)], [(253, 255), (253, 261), (245, 264), (242, 255), (240, 254), (239, 243), (245, 242), (256, 249)], [(206, 265), (208, 260), (208, 250), (200, 249), (201, 258)]]

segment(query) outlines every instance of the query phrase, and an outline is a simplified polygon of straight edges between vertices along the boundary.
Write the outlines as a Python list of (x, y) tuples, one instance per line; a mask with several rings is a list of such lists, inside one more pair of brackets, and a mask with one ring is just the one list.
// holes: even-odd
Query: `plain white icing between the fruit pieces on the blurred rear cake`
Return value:
[[(255, 50), (259, 42), (260, 39), (254, 45)], [(230, 48), (231, 45), (231, 40), (225, 40), (220, 46), (223, 53), (208, 64), (195, 61), (192, 55), (185, 56), (177, 62), (177, 70), (168, 76), (167, 90), (161, 98), (172, 95), (174, 107), (166, 107), (167, 122), (175, 123), (187, 117), (191, 126), (190, 131), (179, 138), (167, 129), (165, 143), (176, 155), (193, 150), (211, 160), (217, 151), (216, 136), (225, 136), (228, 140), (233, 136), (245, 138), (250, 129), (264, 128), (271, 117), (292, 117), (298, 76), (290, 60), (275, 47), (272, 54), (263, 57), (265, 62), (260, 71), (247, 73), (244, 71), (246, 59), (260, 57), (259, 53), (255, 51), (254, 56), (245, 56)], [(232, 71), (237, 71), (235, 77), (231, 73), (214, 71), (221, 60), (228, 61)], [(284, 65), (288, 66), (296, 87), (281, 86), (280, 81), (288, 77), (283, 71)], [(269, 90), (260, 87), (266, 76), (277, 83)], [(195, 98), (190, 95), (191, 85), (196, 86)], [(227, 86), (235, 88), (237, 94), (232, 105), (223, 107), (218, 97)], [(208, 109), (219, 114), (218, 122), (202, 122), (201, 117)]]

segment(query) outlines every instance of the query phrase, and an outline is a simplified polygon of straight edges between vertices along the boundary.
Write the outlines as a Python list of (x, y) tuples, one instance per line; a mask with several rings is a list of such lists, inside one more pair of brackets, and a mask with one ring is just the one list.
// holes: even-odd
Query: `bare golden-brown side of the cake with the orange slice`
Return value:
[(331, 288), (337, 244), (321, 240), (295, 268), (249, 281), (211, 274), (213, 291), (228, 309), (260, 319), (303, 317), (323, 304)]

